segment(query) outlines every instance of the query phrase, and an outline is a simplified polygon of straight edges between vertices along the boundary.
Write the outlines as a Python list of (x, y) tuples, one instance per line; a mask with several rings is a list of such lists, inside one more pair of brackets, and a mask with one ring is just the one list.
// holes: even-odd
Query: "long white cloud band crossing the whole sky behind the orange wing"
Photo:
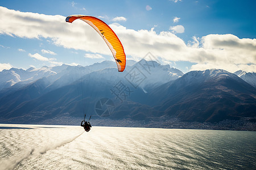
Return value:
[[(66, 23), (60, 15), (20, 12), (0, 7), (0, 34), (29, 39), (49, 39), (57, 46), (95, 53), (90, 58), (112, 56), (108, 46), (92, 27), (81, 20)], [(19, 27), (17, 27), (19, 25)], [(189, 61), (195, 63), (191, 70), (220, 68), (230, 72), (256, 70), (256, 39), (240, 39), (234, 35), (207, 35), (193, 37), (186, 44), (174, 33), (184, 32), (184, 27), (171, 27), (171, 31), (156, 33), (154, 29), (127, 29), (120, 24), (110, 24), (118, 35), (128, 58), (140, 59), (148, 52), (165, 62)], [(30, 54), (48, 62), (52, 59)], [(86, 56), (85, 56), (86, 57)]]

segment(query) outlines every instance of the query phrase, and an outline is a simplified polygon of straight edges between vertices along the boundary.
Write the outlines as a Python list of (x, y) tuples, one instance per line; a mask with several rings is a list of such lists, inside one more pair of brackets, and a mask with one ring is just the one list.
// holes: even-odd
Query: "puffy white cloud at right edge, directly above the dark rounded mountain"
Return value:
[[(239, 39), (234, 35), (207, 35), (201, 39), (204, 58), (192, 70), (219, 68), (231, 72), (256, 70), (256, 39)], [(203, 55), (202, 55), (203, 56)]]

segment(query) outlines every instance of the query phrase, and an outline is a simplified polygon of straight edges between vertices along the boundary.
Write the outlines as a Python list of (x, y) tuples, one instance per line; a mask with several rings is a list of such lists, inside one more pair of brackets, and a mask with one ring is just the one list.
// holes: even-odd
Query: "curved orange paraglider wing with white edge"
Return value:
[(126, 57), (123, 45), (109, 25), (94, 16), (88, 15), (70, 15), (66, 18), (66, 22), (72, 23), (76, 19), (83, 20), (98, 32), (109, 46), (115, 58), (115, 62), (117, 63), (118, 71), (122, 72), (125, 70)]

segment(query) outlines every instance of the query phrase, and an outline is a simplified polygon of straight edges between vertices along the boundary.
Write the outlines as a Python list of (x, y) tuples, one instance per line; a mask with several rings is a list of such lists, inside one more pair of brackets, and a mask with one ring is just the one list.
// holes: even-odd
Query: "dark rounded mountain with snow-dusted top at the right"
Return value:
[(183, 121), (236, 120), (254, 117), (256, 109), (256, 89), (238, 76), (218, 69), (190, 71), (160, 86), (150, 98), (158, 99), (156, 108), (160, 111)]

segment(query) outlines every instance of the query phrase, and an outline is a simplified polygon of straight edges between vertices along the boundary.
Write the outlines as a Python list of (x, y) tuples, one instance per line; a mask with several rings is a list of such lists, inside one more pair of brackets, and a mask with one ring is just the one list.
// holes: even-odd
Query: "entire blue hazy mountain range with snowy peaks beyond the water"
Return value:
[(90, 66), (44, 66), (0, 72), (1, 123), (36, 124), (61, 117), (220, 122), (256, 117), (256, 74), (220, 69), (183, 74), (142, 59)]

